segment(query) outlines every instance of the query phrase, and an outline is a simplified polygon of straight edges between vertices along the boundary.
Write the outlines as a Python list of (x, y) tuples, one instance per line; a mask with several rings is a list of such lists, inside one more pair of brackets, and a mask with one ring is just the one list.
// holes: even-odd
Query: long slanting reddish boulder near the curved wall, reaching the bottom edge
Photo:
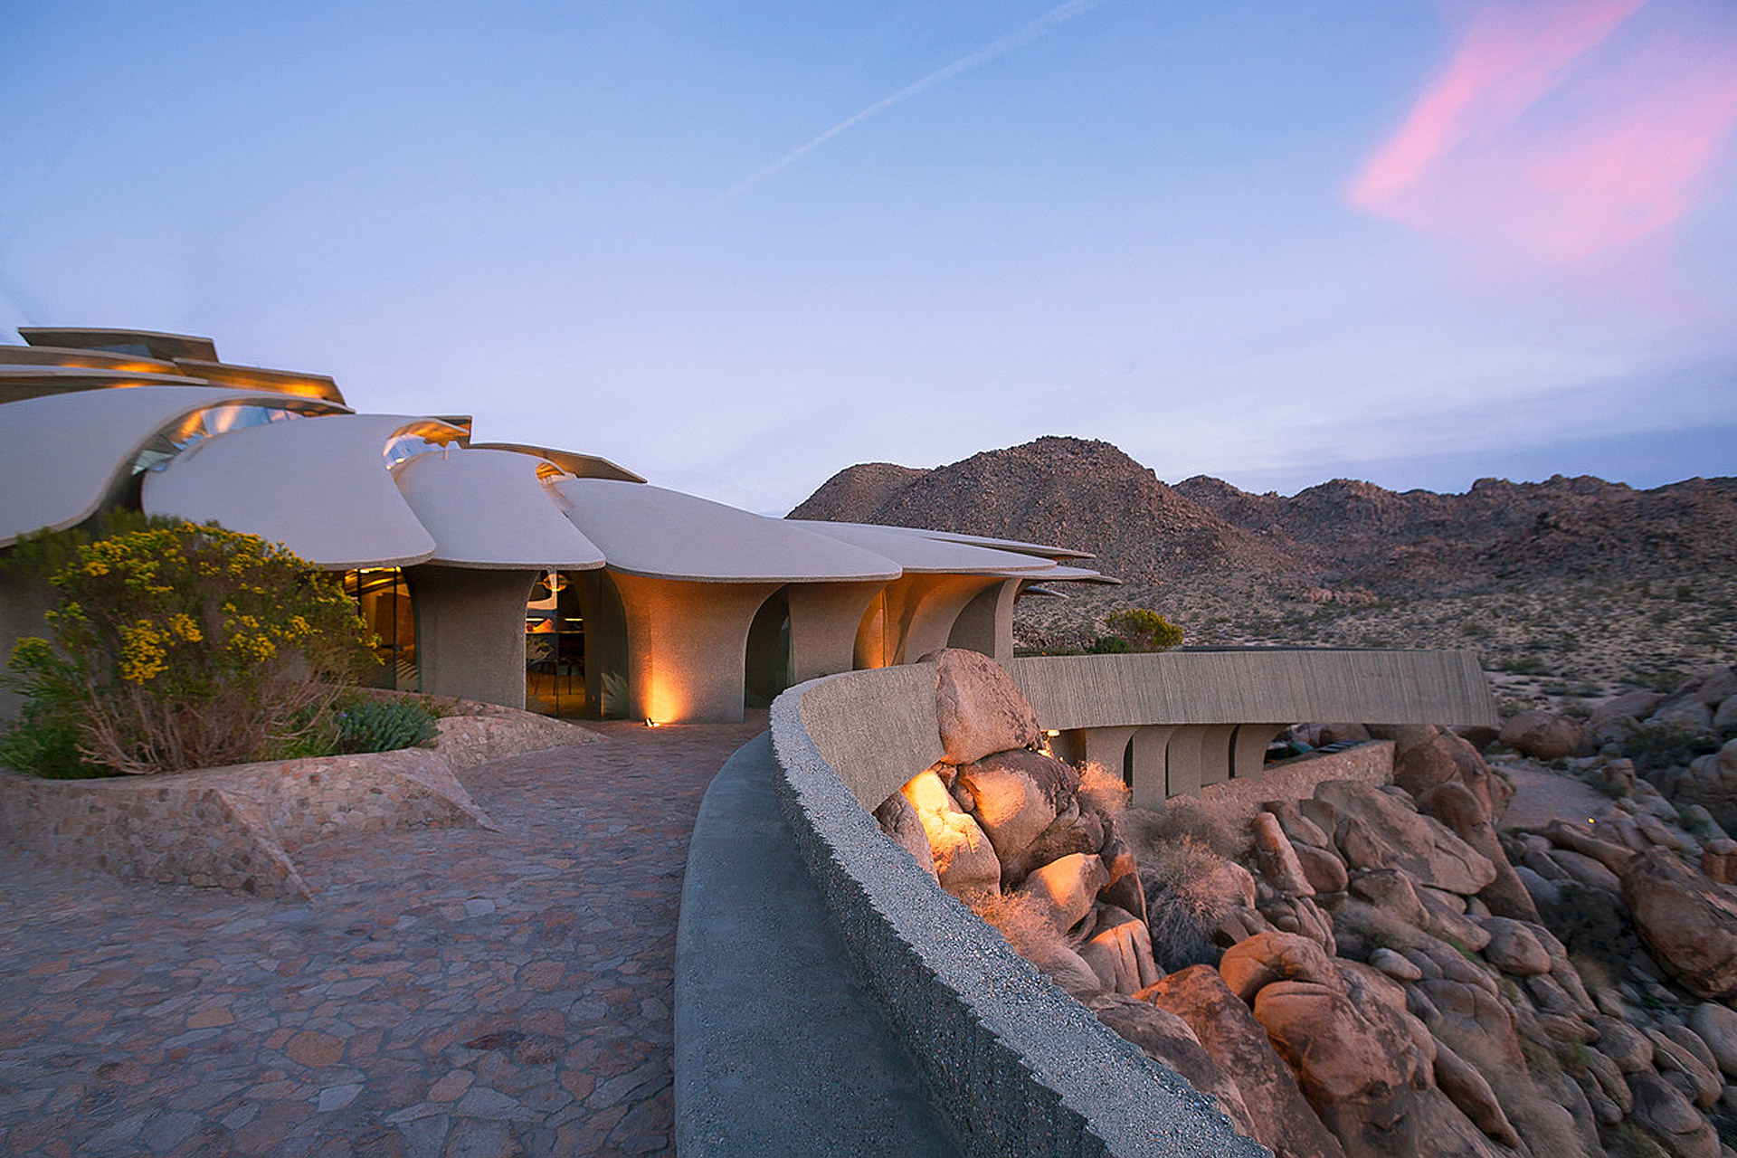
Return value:
[(1261, 1023), (1218, 970), (1190, 965), (1141, 990), (1139, 997), (1186, 1021), (1212, 1061), (1237, 1083), (1254, 1120), (1254, 1141), (1275, 1155), (1343, 1158), (1339, 1141), (1303, 1099), (1296, 1076), (1273, 1052)]

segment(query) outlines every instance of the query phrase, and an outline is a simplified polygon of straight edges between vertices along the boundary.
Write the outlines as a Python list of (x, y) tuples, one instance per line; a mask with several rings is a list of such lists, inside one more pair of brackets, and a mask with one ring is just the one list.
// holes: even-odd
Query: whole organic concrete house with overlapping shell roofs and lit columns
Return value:
[[(1080, 552), (771, 519), (471, 418), (353, 410), (210, 339), (21, 328), (0, 345), (0, 550), (129, 507), (342, 571), (380, 682), (551, 715), (735, 720), (790, 684), (955, 646), (1013, 655), (1013, 602), (1106, 582)], [(49, 592), (0, 580), (0, 648)], [(10, 715), (16, 700), (0, 700)]]

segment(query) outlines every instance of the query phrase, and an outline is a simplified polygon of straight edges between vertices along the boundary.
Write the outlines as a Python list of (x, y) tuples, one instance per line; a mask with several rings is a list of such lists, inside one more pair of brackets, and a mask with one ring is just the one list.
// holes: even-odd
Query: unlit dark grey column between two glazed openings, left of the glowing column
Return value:
[(525, 707), (525, 604), (537, 575), (405, 568), (424, 693)]

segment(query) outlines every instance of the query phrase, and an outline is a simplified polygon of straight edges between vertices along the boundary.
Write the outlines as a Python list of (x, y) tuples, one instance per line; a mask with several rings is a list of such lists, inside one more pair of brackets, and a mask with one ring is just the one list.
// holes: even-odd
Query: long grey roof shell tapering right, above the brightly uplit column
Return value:
[(556, 479), (566, 517), (631, 575), (710, 583), (895, 580), (882, 554), (707, 498), (620, 479)]

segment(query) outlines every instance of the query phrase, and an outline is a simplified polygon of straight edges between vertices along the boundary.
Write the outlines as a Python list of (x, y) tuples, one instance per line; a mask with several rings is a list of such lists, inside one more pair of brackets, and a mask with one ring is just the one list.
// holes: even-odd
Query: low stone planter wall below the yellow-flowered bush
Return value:
[(33, 780), (0, 773), (0, 840), (118, 877), (307, 899), (294, 852), (337, 832), (493, 823), (453, 774), (596, 733), (530, 714), (439, 720), (434, 748)]

